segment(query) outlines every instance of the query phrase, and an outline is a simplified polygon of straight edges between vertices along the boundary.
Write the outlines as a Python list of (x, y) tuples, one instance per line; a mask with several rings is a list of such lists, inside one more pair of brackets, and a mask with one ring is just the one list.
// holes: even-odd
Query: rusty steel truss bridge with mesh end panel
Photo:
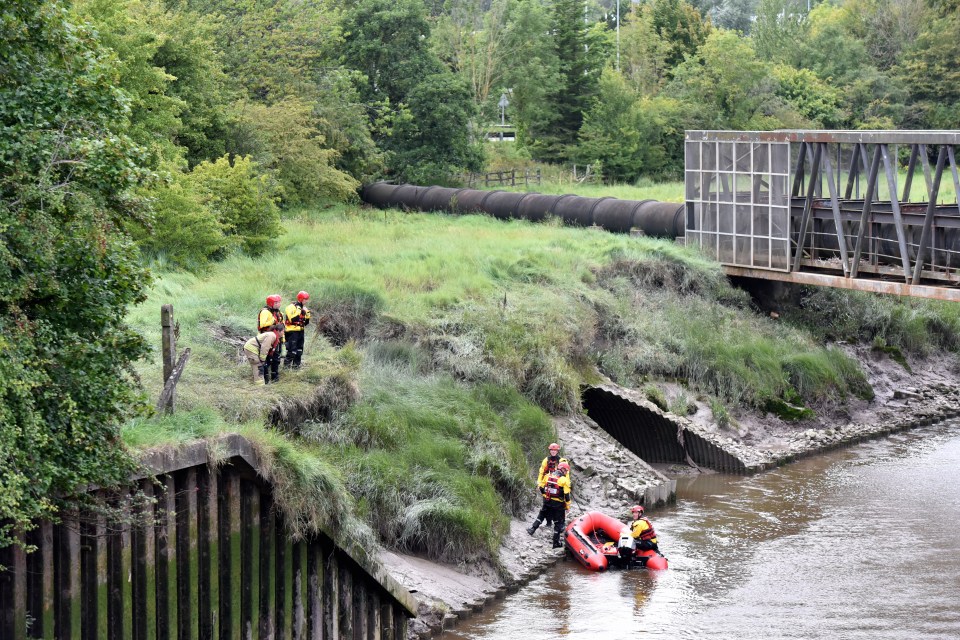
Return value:
[(956, 145), (960, 131), (688, 131), (686, 242), (728, 275), (960, 301)]

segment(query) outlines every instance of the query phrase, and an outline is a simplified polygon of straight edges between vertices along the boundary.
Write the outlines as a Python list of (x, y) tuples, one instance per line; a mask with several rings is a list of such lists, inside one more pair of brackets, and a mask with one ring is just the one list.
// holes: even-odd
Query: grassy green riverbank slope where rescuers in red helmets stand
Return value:
[[(323, 330), (308, 328), (302, 371), (254, 387), (240, 345), (268, 293), (285, 305), (300, 289)], [(535, 495), (549, 414), (576, 411), (601, 376), (681, 380), (717, 407), (871, 392), (842, 352), (753, 312), (692, 251), (556, 224), (301, 211), (267, 256), (159, 274), (132, 311), (153, 344), (164, 303), (193, 350), (182, 411), (130, 425), (128, 443), (240, 431), (273, 461), (299, 526), (352, 523), (439, 558), (495, 553)], [(160, 369), (141, 365), (148, 389)]]

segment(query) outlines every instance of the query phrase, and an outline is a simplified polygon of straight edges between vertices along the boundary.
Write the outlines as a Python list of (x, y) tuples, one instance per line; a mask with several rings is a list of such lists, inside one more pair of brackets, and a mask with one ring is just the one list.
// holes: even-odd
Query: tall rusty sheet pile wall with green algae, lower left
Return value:
[(0, 550), (0, 638), (406, 638), (409, 594), (327, 536), (292, 540), (242, 459), (139, 488), (146, 520), (67, 517), (27, 534), (32, 553)]

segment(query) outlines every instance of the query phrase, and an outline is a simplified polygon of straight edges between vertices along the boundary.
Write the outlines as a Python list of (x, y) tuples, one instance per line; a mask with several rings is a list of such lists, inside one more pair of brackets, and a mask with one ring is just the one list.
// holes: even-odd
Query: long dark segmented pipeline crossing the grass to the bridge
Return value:
[(565, 223), (598, 226), (621, 233), (639, 229), (648, 236), (676, 238), (684, 233), (684, 206), (656, 200), (618, 200), (542, 193), (420, 187), (377, 182), (363, 188), (361, 198), (377, 207), (447, 213), (487, 213), (500, 220), (538, 221), (547, 217)]

